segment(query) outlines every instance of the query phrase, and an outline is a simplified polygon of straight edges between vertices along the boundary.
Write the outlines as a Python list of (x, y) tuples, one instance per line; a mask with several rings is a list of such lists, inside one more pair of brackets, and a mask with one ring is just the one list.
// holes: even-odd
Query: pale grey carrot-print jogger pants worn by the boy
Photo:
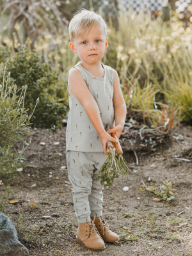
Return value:
[(79, 223), (90, 217), (102, 216), (102, 189), (99, 180), (100, 168), (106, 157), (104, 152), (67, 151), (68, 179), (72, 184), (74, 207)]

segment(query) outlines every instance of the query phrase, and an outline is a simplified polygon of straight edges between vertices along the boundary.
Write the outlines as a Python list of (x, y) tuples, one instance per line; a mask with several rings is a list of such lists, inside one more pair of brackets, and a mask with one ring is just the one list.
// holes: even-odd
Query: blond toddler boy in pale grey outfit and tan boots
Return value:
[(117, 72), (100, 62), (108, 47), (107, 26), (95, 12), (81, 9), (68, 27), (70, 49), (79, 61), (67, 74), (69, 108), (66, 130), (68, 178), (74, 189), (78, 219), (77, 242), (90, 250), (104, 250), (119, 240), (102, 218), (102, 185), (97, 177), (106, 159), (108, 141), (116, 142), (124, 129), (126, 105)]

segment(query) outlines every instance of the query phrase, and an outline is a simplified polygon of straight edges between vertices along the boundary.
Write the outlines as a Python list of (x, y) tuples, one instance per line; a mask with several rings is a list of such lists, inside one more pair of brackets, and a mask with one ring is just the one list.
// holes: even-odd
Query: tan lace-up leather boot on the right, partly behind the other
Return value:
[[(94, 218), (95, 217), (91, 217), (92, 220)], [(106, 221), (104, 221), (102, 217), (96, 217), (94, 223), (95, 227), (99, 231), (100, 236), (102, 237), (102, 239), (104, 239), (106, 243), (120, 242), (119, 236), (109, 229), (108, 223), (106, 223)]]

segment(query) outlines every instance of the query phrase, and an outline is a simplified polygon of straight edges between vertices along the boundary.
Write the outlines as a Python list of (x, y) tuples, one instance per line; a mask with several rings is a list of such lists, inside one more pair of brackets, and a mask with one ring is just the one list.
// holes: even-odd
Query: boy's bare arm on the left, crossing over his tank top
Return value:
[(90, 90), (88, 90), (81, 73), (76, 68), (72, 68), (68, 73), (68, 86), (70, 86), (73, 94), (76, 95), (77, 100), (79, 100), (79, 102), (83, 105), (88, 118), (90, 118), (90, 121), (100, 136), (102, 147), (104, 153), (106, 154), (107, 142), (109, 140), (116, 142), (116, 140), (109, 136), (109, 134), (105, 131), (100, 118), (100, 111), (97, 102), (93, 98)]

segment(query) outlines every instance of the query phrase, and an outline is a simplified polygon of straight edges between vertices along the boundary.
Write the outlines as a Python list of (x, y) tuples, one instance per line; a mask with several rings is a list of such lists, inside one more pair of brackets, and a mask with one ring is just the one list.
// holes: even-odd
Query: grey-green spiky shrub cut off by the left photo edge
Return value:
[[(5, 73), (5, 72), (4, 72)], [(28, 86), (22, 86), (19, 90), (14, 82), (11, 82), (10, 73), (7, 80), (0, 85), (0, 180), (8, 184), (14, 179), (17, 169), (20, 168), (20, 160), (24, 150), (30, 144), (24, 141), (24, 134), (28, 134), (29, 120), (24, 108), (24, 99)], [(20, 96), (17, 93), (20, 93)], [(38, 100), (36, 100), (37, 104)], [(35, 107), (36, 107), (35, 104)], [(35, 108), (33, 109), (33, 111)], [(33, 115), (33, 113), (31, 113)], [(16, 142), (22, 142), (20, 152), (12, 152)]]

